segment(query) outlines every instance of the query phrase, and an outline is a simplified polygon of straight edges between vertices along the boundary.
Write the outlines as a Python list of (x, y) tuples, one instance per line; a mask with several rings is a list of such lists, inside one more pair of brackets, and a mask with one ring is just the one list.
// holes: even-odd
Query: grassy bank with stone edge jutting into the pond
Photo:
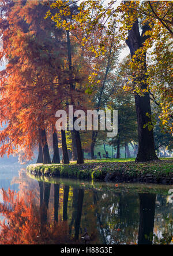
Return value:
[(84, 164), (30, 164), (35, 175), (114, 182), (173, 184), (173, 159), (135, 163), (134, 159), (86, 160)]

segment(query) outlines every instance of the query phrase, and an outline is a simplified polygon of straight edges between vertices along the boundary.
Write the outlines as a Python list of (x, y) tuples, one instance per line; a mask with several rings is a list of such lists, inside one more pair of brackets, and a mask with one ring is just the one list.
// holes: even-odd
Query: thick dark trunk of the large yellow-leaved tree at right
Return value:
[[(128, 1), (127, 1), (128, 2)], [(127, 3), (128, 4), (128, 3)], [(149, 30), (147, 25), (144, 25), (142, 29), (142, 34), (140, 35), (138, 20), (136, 20), (133, 24), (131, 30), (128, 31), (128, 39), (126, 40), (127, 45), (130, 49), (131, 58), (135, 54), (136, 50), (142, 47), (142, 43), (145, 42), (146, 36), (143, 34)], [(146, 56), (144, 57), (144, 70), (142, 71), (142, 80), (146, 81), (147, 77), (146, 73)], [(134, 85), (137, 82), (134, 81)], [(147, 89), (147, 83), (141, 83), (141, 89)], [(138, 154), (136, 158), (136, 162), (146, 162), (149, 160), (158, 159), (155, 152), (155, 141), (153, 137), (153, 129), (149, 130), (144, 125), (146, 123), (151, 122), (151, 104), (149, 99), (149, 93), (146, 92), (144, 96), (140, 96), (139, 94), (135, 94), (135, 103), (136, 103), (136, 112), (137, 112), (137, 122), (138, 122)], [(146, 116), (146, 113), (149, 116)]]

